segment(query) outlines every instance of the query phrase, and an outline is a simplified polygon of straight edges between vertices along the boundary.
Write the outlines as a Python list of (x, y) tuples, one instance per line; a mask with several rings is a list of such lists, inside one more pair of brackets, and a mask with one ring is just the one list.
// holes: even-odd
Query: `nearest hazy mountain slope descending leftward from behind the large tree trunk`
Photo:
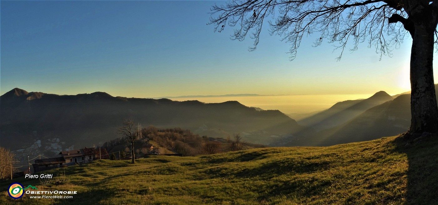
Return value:
[[(437, 91), (438, 84), (435, 84), (435, 92)], [(436, 94), (438, 96), (438, 93)], [(383, 93), (379, 95), (382, 100), (385, 100), (385, 98), (388, 97)], [(367, 141), (386, 136), (396, 136), (406, 132), (409, 129), (411, 120), (410, 92), (394, 96), (396, 96), (395, 99), (369, 108), (343, 124), (332, 126), (327, 129), (316, 129), (318, 132), (310, 133), (304, 137), (291, 136), (289, 139), (282, 139), (283, 141), (278, 142), (275, 145), (331, 146), (342, 143)], [(347, 103), (356, 105), (359, 102), (349, 101)], [(333, 107), (335, 107), (335, 105)], [(318, 117), (320, 116), (318, 116), (318, 114), (311, 116), (310, 118), (319, 119)], [(301, 121), (298, 122), (300, 123)], [(311, 128), (313, 127), (311, 126)]]

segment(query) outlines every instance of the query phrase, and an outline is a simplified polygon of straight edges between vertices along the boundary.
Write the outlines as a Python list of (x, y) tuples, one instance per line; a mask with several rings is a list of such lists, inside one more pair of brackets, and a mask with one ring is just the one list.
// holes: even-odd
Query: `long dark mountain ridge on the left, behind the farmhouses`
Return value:
[[(10, 149), (21, 149), (36, 140), (47, 142), (42, 147), (61, 146), (62, 149), (71, 145), (99, 145), (119, 137), (116, 128), (124, 118), (133, 118), (143, 126), (218, 133), (217, 137), (245, 132), (248, 134), (245, 140), (265, 144), (270, 136), (303, 129), (278, 110), (257, 111), (237, 101), (203, 103), (127, 98), (105, 92), (57, 95), (15, 88), (0, 97), (0, 114), (0, 146)], [(48, 140), (59, 142), (50, 145), (52, 142)]]

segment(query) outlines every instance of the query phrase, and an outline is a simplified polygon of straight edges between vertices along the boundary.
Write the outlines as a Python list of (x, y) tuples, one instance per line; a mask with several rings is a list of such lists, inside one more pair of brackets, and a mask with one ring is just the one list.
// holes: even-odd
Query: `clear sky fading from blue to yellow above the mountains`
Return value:
[[(1, 1), (1, 94), (27, 91), (159, 97), (221, 94), (397, 94), (408, 89), (410, 39), (379, 61), (367, 44), (338, 51), (303, 40), (289, 61), (279, 36), (213, 32), (224, 1)], [(436, 76), (435, 76), (436, 78)]]

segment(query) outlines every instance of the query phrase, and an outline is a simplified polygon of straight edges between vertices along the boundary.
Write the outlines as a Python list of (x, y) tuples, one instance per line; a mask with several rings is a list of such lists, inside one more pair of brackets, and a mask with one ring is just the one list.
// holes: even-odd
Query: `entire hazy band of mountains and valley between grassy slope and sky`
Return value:
[(117, 127), (124, 118), (132, 118), (145, 127), (180, 127), (210, 138), (238, 133), (247, 142), (266, 146), (329, 146), (405, 132), (409, 94), (395, 97), (379, 91), (366, 99), (337, 102), (324, 111), (285, 115), (238, 101), (127, 98), (104, 92), (57, 95), (15, 88), (0, 98), (0, 144), (23, 157), (102, 146), (120, 137)]

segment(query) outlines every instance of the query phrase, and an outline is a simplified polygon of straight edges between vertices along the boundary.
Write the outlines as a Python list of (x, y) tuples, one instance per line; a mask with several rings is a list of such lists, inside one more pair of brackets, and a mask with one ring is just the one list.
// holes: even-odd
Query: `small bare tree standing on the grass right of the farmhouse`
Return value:
[(143, 138), (141, 125), (138, 124), (134, 127), (134, 121), (132, 119), (124, 119), (122, 124), (121, 127), (117, 128), (117, 131), (118, 134), (124, 136), (126, 141), (131, 144), (132, 163), (135, 163), (134, 143), (137, 142), (138, 139)]

